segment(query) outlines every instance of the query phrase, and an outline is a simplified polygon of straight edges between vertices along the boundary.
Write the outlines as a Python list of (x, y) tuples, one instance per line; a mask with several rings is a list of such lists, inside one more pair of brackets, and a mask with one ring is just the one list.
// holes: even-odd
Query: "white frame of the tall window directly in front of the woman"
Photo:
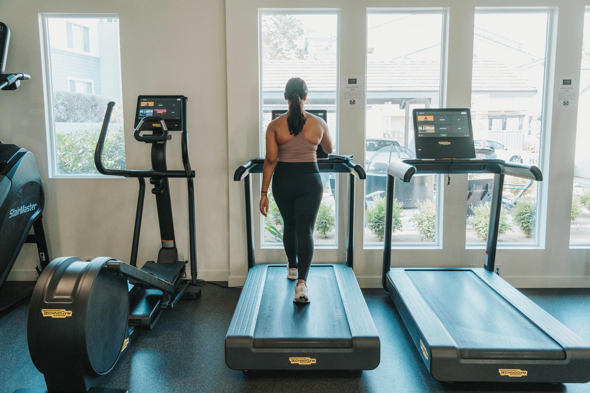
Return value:
[[(263, 141), (263, 111), (264, 111), (264, 97), (263, 97), (263, 51), (262, 51), (262, 16), (274, 14), (274, 15), (320, 15), (329, 14), (336, 15), (336, 105), (335, 105), (335, 116), (336, 116), (336, 138), (334, 140), (334, 153), (338, 154), (338, 140), (339, 140), (339, 97), (340, 97), (340, 9), (339, 8), (258, 8), (258, 100), (259, 100), (259, 123), (260, 132), (258, 138), (260, 139), (260, 153), (261, 157), (264, 156), (264, 141)], [(334, 243), (319, 243), (314, 242), (314, 249), (337, 249), (338, 248), (338, 237), (339, 237), (339, 173), (335, 173), (335, 196), (334, 196)], [(262, 175), (260, 175), (260, 184), (262, 184)], [(363, 185), (364, 186), (364, 185)], [(264, 220), (260, 219), (260, 248), (261, 249), (283, 249), (283, 243), (276, 245), (264, 243)]]

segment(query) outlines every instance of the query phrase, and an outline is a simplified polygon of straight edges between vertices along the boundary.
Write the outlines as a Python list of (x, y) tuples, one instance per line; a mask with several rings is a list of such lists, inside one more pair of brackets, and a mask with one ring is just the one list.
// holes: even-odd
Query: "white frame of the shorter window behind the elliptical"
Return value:
[[(39, 14), (39, 37), (41, 44), (41, 68), (43, 74), (43, 93), (45, 95), (45, 130), (47, 130), (47, 157), (50, 178), (76, 179), (76, 178), (121, 178), (121, 176), (107, 176), (104, 174), (64, 174), (57, 169), (57, 139), (55, 137), (55, 121), (53, 117), (53, 86), (51, 80), (51, 48), (49, 37), (48, 18), (119, 18), (119, 14), (70, 14), (70, 13), (43, 13)], [(70, 49), (70, 48), (68, 48)], [(71, 49), (70, 49), (71, 50)], [(120, 49), (119, 49), (120, 50)], [(78, 51), (75, 51), (78, 52)], [(86, 53), (86, 52), (84, 52)], [(120, 55), (119, 55), (120, 58)], [(120, 65), (119, 65), (120, 67)], [(69, 90), (69, 86), (68, 86)], [(94, 85), (93, 85), (94, 91)]]

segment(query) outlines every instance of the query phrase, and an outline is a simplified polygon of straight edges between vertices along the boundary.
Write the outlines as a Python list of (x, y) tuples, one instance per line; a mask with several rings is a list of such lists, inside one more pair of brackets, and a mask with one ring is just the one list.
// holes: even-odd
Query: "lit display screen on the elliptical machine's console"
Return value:
[[(170, 131), (181, 130), (181, 99), (182, 95), (140, 95), (137, 97), (137, 110), (135, 113), (135, 126), (143, 117), (157, 116), (166, 122)], [(153, 130), (160, 127), (158, 121), (146, 124), (144, 130)]]

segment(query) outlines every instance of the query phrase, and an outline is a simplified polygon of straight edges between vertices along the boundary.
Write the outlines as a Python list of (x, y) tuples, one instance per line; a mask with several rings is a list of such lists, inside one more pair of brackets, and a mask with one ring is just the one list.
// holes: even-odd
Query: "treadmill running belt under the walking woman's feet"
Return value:
[(352, 335), (332, 266), (309, 271), (309, 303), (294, 303), (296, 280), (270, 266), (254, 329), (254, 348), (352, 348)]

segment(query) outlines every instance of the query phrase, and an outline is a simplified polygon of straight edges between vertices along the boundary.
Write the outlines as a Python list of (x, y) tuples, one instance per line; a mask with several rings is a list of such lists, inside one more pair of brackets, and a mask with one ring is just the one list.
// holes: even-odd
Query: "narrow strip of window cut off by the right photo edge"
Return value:
[(569, 241), (576, 246), (590, 246), (590, 134), (586, 108), (590, 107), (590, 12), (584, 14), (582, 70), (576, 128), (576, 154), (573, 168), (572, 223)]

